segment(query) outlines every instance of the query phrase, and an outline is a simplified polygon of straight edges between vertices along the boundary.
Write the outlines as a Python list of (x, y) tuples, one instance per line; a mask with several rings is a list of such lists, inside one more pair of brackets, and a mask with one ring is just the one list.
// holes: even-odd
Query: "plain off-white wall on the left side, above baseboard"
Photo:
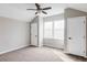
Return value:
[(0, 17), (0, 54), (29, 46), (29, 44), (28, 22)]

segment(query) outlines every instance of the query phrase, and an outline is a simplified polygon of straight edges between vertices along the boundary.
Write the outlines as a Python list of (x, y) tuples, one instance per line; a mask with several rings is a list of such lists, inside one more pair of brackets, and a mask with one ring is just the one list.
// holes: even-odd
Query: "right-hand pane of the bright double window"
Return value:
[(54, 39), (64, 40), (64, 20), (54, 21)]

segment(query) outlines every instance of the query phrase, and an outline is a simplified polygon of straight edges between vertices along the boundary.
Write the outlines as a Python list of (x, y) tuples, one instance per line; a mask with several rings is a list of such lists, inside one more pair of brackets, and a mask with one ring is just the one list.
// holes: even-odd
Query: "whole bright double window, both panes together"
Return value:
[(44, 22), (44, 39), (64, 40), (64, 20)]

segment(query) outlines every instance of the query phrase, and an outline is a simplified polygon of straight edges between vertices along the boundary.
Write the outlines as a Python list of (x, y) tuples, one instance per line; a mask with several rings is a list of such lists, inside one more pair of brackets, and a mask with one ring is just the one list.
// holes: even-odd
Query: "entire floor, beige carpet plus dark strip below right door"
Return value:
[(47, 46), (29, 46), (0, 55), (0, 62), (87, 62), (87, 58)]

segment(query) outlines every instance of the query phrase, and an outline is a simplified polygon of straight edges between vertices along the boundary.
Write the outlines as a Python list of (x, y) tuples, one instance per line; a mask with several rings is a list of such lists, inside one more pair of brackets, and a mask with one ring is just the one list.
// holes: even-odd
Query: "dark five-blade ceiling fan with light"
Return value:
[(45, 12), (44, 10), (50, 10), (50, 9), (52, 9), (51, 7), (41, 8), (41, 6), (40, 6), (39, 3), (35, 3), (35, 7), (36, 7), (36, 9), (26, 9), (26, 10), (34, 10), (34, 11), (36, 11), (35, 14), (37, 14), (37, 13), (40, 13), (40, 12), (42, 12), (42, 13), (44, 13), (44, 14), (47, 14), (47, 12)]

